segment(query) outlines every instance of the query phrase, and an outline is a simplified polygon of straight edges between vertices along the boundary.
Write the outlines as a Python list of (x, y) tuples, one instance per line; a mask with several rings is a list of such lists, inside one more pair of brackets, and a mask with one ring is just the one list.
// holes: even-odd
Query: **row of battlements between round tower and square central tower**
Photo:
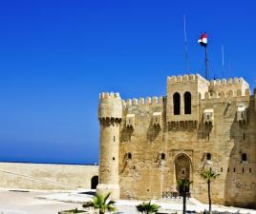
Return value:
[(164, 97), (146, 97), (146, 98), (133, 98), (133, 99), (127, 99), (122, 100), (122, 106), (123, 107), (131, 107), (131, 106), (159, 106), (162, 107), (164, 103)]

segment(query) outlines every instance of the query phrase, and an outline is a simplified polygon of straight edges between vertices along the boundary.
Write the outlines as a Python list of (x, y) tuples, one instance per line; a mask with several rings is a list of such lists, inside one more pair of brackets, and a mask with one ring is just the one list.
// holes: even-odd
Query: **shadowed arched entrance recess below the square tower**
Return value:
[[(191, 161), (186, 154), (181, 154), (175, 160), (175, 179), (176, 182), (180, 179), (191, 181)], [(181, 193), (181, 189), (177, 189)], [(189, 192), (187, 187), (186, 192)]]

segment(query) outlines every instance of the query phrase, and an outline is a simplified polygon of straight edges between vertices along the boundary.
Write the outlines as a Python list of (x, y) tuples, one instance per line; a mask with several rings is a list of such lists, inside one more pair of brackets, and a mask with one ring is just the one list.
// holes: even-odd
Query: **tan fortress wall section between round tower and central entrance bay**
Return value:
[[(147, 101), (150, 99), (148, 98)], [(156, 100), (156, 99), (154, 99)], [(135, 115), (134, 127), (120, 126), (119, 145), (119, 184), (121, 198), (149, 199), (160, 198), (159, 158), (162, 133), (153, 127), (153, 113), (162, 112), (162, 104), (131, 105), (123, 109)], [(163, 123), (162, 123), (163, 124)], [(162, 125), (161, 124), (161, 125)], [(127, 159), (127, 153), (132, 154)]]

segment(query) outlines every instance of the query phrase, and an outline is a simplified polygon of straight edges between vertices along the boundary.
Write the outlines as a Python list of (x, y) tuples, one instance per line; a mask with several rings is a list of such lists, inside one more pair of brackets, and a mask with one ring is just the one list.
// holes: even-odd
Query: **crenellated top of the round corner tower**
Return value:
[(122, 101), (119, 93), (102, 92), (99, 94), (98, 119), (122, 118)]

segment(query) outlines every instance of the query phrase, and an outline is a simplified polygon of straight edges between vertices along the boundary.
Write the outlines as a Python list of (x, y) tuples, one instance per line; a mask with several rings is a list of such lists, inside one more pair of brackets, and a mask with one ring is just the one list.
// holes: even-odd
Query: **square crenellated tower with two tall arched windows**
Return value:
[(199, 102), (209, 82), (199, 74), (167, 77), (168, 123), (199, 121)]

